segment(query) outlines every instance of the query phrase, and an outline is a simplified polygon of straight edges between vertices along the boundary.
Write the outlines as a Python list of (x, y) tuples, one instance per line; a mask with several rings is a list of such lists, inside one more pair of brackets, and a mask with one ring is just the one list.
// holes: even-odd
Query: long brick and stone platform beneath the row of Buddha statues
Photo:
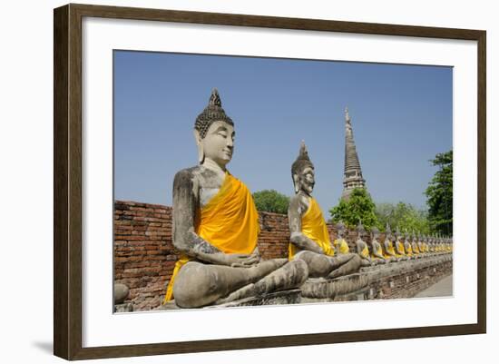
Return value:
[[(365, 267), (357, 273), (337, 279), (308, 279), (296, 290), (273, 292), (211, 305), (203, 309), (412, 298), (452, 274), (452, 267), (451, 253), (427, 255), (410, 261)], [(128, 307), (117, 307), (116, 311), (126, 311), (126, 309)], [(175, 304), (175, 300), (171, 300), (153, 310), (181, 310), (181, 308)]]

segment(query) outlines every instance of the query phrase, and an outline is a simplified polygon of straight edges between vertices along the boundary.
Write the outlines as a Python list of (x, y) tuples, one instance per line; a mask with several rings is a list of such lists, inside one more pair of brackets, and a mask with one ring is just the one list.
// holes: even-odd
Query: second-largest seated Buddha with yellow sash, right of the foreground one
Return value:
[(303, 142), (298, 158), (291, 165), (291, 176), (295, 195), (291, 197), (288, 208), (289, 261), (306, 261), (311, 278), (337, 278), (358, 271), (360, 257), (353, 253), (337, 254), (331, 244), (326, 221), (312, 196), (314, 165)]

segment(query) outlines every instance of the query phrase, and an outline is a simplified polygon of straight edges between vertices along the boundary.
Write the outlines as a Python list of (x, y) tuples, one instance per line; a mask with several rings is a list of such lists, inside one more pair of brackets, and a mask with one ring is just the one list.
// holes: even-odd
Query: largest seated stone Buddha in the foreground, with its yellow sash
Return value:
[(305, 261), (260, 259), (251, 193), (227, 170), (234, 136), (214, 89), (194, 124), (199, 164), (177, 172), (173, 181), (172, 241), (181, 258), (164, 303), (174, 298), (181, 308), (198, 308), (293, 289), (308, 278)]

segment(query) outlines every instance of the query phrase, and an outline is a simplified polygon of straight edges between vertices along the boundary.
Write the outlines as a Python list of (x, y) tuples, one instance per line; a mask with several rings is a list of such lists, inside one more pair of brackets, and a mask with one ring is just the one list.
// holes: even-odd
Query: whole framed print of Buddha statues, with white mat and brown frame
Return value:
[(480, 30), (55, 9), (54, 354), (485, 332), (485, 102)]

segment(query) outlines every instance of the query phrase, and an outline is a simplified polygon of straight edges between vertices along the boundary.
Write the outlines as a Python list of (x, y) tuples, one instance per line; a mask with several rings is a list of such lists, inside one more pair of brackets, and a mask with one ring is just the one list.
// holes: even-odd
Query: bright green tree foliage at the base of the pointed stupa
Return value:
[(329, 210), (329, 213), (331, 221), (335, 223), (343, 221), (350, 228), (357, 226), (360, 220), (367, 230), (373, 226), (379, 226), (376, 205), (366, 189), (354, 189), (348, 201), (340, 200), (337, 206)]

